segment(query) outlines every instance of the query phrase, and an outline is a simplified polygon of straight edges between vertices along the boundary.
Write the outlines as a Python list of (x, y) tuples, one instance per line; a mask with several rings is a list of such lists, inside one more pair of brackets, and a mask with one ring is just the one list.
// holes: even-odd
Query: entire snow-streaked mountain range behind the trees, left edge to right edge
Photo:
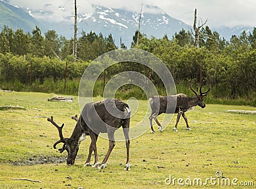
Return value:
[[(33, 6), (29, 7), (29, 4), (20, 8), (19, 4), (12, 5), (7, 0), (0, 0), (0, 29), (6, 25), (13, 30), (20, 27), (26, 32), (31, 32), (35, 26), (39, 26), (42, 33), (55, 30), (59, 35), (72, 38), (74, 36), (74, 10), (72, 6), (67, 7), (65, 4), (58, 3), (60, 2), (49, 1), (42, 8), (35, 9)], [(78, 9), (78, 35), (82, 31), (86, 33), (94, 31), (104, 36), (112, 34), (116, 45), (120, 46), (120, 38), (122, 38), (122, 43), (130, 47), (132, 36), (138, 30), (139, 20), (140, 9), (134, 12), (92, 5), (88, 10)], [(232, 34), (239, 36), (242, 31), (252, 31), (252, 28), (244, 26), (212, 28), (210, 25), (209, 27), (226, 40), (230, 40)], [(179, 33), (181, 29), (192, 28), (181, 20), (173, 19), (157, 6), (143, 4), (140, 32), (147, 34), (148, 38), (150, 36), (162, 38), (164, 34), (172, 38), (173, 34)]]

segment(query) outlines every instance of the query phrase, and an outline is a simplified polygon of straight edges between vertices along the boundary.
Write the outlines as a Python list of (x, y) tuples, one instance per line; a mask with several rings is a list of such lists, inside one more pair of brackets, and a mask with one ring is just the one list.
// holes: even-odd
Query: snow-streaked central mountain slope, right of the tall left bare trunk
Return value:
[[(175, 32), (179, 32), (182, 28), (189, 29), (187, 24), (173, 19), (157, 6), (144, 6), (143, 8), (146, 10), (154, 12), (141, 14), (140, 31), (147, 34), (148, 37), (155, 36), (156, 38), (161, 38), (164, 34), (172, 37)], [(140, 13), (102, 6), (93, 7), (95, 12), (92, 15), (79, 15), (79, 26), (84, 31), (93, 30), (97, 33), (103, 31), (104, 34), (111, 33), (118, 40), (122, 37), (124, 42), (132, 40), (132, 36), (138, 30)]]

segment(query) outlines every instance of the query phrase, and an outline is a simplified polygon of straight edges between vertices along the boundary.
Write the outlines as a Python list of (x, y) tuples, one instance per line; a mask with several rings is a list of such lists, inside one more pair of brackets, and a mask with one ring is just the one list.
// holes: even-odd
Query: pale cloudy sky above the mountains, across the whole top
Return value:
[[(10, 3), (31, 10), (48, 10), (54, 20), (63, 20), (74, 12), (74, 0), (9, 0)], [(141, 3), (158, 6), (171, 17), (193, 25), (194, 11), (200, 22), (207, 21), (211, 27), (256, 27), (255, 0), (77, 0), (77, 11), (92, 13), (92, 4), (111, 8), (125, 8), (140, 12)], [(65, 10), (65, 11), (62, 11)], [(144, 10), (147, 11), (147, 10)], [(37, 15), (40, 17), (40, 15)]]

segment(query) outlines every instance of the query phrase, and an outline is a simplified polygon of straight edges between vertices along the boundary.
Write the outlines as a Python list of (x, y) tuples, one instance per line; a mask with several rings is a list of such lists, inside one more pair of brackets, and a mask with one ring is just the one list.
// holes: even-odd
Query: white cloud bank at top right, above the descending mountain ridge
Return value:
[[(172, 1), (173, 2), (173, 1)], [(212, 27), (220, 26), (256, 26), (255, 12), (256, 1), (252, 0), (180, 0), (179, 3), (163, 4), (163, 10), (168, 11), (169, 15), (183, 20), (192, 25), (194, 11), (197, 8), (197, 17), (205, 21)]]

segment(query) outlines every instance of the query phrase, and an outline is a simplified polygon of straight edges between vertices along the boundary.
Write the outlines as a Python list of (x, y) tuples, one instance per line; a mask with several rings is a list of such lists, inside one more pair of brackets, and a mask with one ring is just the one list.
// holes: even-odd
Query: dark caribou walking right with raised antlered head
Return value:
[[(190, 84), (190, 89), (193, 91), (193, 93), (196, 94), (196, 96), (192, 96), (192, 97), (188, 97), (186, 96), (186, 94), (176, 94), (176, 95), (169, 95), (169, 96), (154, 96), (152, 98), (149, 99), (150, 101), (150, 107), (152, 110), (151, 116), (149, 117), (149, 122), (150, 122), (150, 126), (151, 126), (151, 133), (155, 133), (153, 125), (152, 125), (152, 119), (154, 118), (156, 120), (156, 123), (158, 125), (158, 129), (160, 132), (162, 132), (162, 126), (159, 123), (159, 121), (157, 121), (157, 116), (159, 116), (160, 114), (173, 114), (173, 113), (177, 113), (177, 121), (175, 124), (175, 127), (173, 128), (173, 130), (175, 132), (178, 132), (177, 130), (177, 125), (180, 119), (180, 116), (182, 115), (182, 117), (184, 118), (184, 120), (186, 121), (186, 125), (187, 125), (187, 130), (191, 130), (191, 128), (189, 128), (188, 125), (188, 119), (185, 115), (185, 112), (188, 111), (189, 109), (191, 109), (192, 107), (195, 107), (196, 105), (202, 107), (202, 109), (204, 109), (205, 107), (205, 103), (203, 102), (203, 97), (207, 95), (207, 93), (210, 91), (210, 87), (206, 92), (202, 92), (202, 86), (204, 84), (204, 80), (200, 86), (200, 94), (197, 93), (198, 91), (198, 87), (196, 87), (196, 91), (191, 87)], [(168, 105), (168, 103), (169, 105)], [(176, 104), (175, 104), (176, 102)], [(167, 107), (168, 106), (168, 107)]]

